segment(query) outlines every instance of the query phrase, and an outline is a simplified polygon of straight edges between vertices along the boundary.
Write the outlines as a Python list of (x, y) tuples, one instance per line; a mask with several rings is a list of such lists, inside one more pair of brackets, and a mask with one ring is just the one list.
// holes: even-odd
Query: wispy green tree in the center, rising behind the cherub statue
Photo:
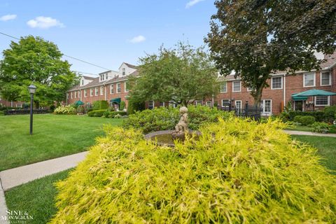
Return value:
[(174, 49), (140, 58), (139, 76), (129, 80), (135, 102), (155, 100), (188, 105), (219, 90), (217, 71), (204, 48), (179, 42)]

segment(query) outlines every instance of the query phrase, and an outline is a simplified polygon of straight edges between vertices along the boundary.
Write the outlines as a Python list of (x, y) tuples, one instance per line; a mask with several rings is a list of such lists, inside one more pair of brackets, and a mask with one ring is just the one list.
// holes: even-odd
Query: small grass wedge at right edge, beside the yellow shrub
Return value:
[(305, 142), (318, 149), (318, 155), (323, 158), (323, 165), (336, 174), (336, 138), (315, 137), (307, 135), (292, 135), (293, 139)]

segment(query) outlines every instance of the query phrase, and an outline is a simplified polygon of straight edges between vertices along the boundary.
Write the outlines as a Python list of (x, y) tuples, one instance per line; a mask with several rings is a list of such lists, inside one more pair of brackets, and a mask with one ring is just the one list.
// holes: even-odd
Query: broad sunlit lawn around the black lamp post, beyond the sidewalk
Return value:
[(122, 119), (87, 116), (34, 115), (33, 135), (29, 116), (0, 116), (0, 171), (85, 151), (104, 124)]

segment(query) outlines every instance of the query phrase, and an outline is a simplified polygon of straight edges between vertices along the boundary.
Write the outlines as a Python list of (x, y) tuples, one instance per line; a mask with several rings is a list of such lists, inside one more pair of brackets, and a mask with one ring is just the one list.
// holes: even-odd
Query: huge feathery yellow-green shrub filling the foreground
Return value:
[(106, 128), (51, 223), (335, 223), (335, 176), (282, 126), (220, 119), (174, 149)]

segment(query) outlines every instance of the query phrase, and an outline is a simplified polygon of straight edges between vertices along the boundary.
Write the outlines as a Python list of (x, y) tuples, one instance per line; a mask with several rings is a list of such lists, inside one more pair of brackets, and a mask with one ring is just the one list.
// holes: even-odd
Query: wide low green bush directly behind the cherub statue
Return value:
[[(188, 106), (188, 126), (191, 130), (197, 130), (204, 123), (216, 122), (218, 117), (228, 118), (230, 113), (208, 106)], [(179, 108), (160, 107), (129, 115), (128, 119), (124, 120), (123, 127), (134, 127), (147, 134), (160, 130), (174, 130), (179, 119)]]

